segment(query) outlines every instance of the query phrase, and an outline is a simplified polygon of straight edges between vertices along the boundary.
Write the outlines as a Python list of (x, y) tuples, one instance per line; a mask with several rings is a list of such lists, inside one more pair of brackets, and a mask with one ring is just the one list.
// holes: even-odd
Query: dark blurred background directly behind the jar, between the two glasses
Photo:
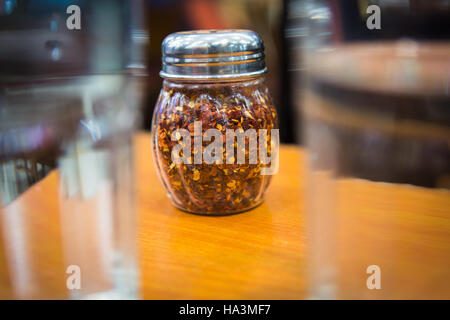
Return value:
[(282, 0), (150, 0), (150, 46), (148, 107), (144, 118), (149, 128), (153, 106), (161, 88), (161, 42), (172, 32), (194, 29), (250, 29), (265, 45), (266, 77), (280, 119), (280, 138), (295, 141), (294, 111), (287, 77), (287, 47), (284, 37), (287, 2)]

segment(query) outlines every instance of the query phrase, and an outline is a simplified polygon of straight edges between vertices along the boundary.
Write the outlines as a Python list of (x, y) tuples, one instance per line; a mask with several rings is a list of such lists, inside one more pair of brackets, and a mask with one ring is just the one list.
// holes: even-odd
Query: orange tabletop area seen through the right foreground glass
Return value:
[[(337, 190), (341, 296), (450, 299), (450, 191), (358, 179)], [(361, 286), (370, 265), (382, 290)]]

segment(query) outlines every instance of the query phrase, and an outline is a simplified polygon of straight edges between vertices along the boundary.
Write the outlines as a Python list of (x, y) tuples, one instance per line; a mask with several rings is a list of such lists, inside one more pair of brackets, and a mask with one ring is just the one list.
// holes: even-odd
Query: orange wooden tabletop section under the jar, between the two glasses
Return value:
[(282, 146), (280, 171), (258, 208), (225, 217), (175, 209), (147, 148), (137, 150), (139, 238), (144, 298), (299, 299), (304, 239), (303, 154)]

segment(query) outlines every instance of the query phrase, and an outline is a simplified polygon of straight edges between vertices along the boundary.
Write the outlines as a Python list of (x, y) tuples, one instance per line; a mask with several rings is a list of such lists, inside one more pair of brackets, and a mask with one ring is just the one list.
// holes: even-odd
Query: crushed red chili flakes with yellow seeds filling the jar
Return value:
[(223, 215), (259, 205), (271, 180), (270, 175), (260, 174), (261, 167), (270, 164), (263, 165), (259, 160), (249, 164), (248, 151), (245, 164), (234, 163), (235, 157), (229, 157), (233, 161), (228, 164), (225, 151), (222, 163), (195, 164), (194, 156), (210, 142), (203, 140), (203, 150), (196, 150), (191, 139), (192, 154), (188, 163), (173, 162), (171, 151), (179, 142), (172, 141), (172, 132), (187, 129), (194, 138), (194, 121), (201, 121), (202, 135), (210, 128), (220, 130), (223, 150), (227, 129), (266, 129), (267, 153), (275, 152), (271, 150), (270, 130), (278, 128), (277, 115), (263, 78), (214, 84), (165, 80), (152, 125), (155, 163), (176, 207), (193, 213)]

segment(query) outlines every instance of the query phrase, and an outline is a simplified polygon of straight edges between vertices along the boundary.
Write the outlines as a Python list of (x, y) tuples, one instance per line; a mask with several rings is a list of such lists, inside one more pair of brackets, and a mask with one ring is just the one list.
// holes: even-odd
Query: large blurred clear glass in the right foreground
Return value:
[(449, 2), (294, 3), (311, 297), (449, 298)]

